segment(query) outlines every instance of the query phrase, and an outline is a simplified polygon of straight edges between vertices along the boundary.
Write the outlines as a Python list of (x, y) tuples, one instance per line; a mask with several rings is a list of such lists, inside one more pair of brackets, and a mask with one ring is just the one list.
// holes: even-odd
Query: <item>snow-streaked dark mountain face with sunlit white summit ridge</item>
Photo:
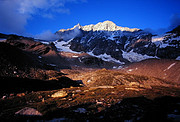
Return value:
[(180, 56), (179, 31), (156, 38), (137, 28), (120, 27), (111, 21), (104, 21), (96, 25), (78, 24), (71, 29), (61, 29), (56, 34), (60, 39), (54, 44), (59, 51), (68, 48), (105, 60), (110, 58), (120, 64), (147, 58), (176, 59)]

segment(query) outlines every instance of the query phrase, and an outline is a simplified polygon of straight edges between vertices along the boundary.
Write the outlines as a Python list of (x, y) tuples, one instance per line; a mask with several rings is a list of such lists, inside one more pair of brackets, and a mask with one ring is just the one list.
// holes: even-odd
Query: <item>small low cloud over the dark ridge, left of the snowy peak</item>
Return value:
[(46, 40), (46, 41), (54, 41), (59, 39), (59, 35), (52, 33), (50, 30), (44, 31), (41, 34), (35, 35), (34, 38)]

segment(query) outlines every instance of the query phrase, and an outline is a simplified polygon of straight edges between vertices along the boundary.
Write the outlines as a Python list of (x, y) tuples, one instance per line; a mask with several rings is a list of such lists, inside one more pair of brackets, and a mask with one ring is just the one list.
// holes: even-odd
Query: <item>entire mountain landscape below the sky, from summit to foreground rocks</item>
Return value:
[(180, 121), (180, 26), (104, 21), (54, 36), (0, 33), (0, 121)]

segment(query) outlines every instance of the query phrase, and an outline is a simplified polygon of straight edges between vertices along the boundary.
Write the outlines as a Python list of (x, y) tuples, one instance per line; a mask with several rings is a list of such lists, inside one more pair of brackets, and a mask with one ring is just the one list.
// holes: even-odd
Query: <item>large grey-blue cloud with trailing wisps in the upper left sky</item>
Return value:
[(33, 15), (54, 18), (55, 14), (70, 14), (67, 3), (86, 0), (0, 0), (0, 32), (22, 34)]

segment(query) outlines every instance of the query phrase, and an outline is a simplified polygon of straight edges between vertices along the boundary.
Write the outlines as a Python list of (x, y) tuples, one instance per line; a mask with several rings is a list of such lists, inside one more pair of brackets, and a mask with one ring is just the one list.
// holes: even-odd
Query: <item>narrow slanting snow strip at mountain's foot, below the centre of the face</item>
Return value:
[(92, 55), (94, 57), (97, 57), (97, 58), (101, 58), (102, 60), (104, 61), (108, 61), (108, 62), (116, 62), (116, 63), (119, 63), (119, 64), (125, 64), (124, 62), (121, 62), (115, 58), (112, 58), (111, 55), (107, 55), (106, 53), (104, 54), (101, 54), (101, 55), (94, 55), (92, 52), (88, 52), (89, 55)]

